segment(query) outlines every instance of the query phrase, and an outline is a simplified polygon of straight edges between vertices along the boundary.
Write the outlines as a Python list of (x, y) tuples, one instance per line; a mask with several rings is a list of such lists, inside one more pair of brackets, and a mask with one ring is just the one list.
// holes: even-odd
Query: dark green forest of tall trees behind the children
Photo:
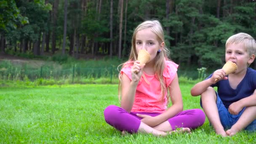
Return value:
[(256, 37), (254, 0), (0, 0), (0, 53), (121, 64), (133, 30), (149, 19), (162, 23), (170, 58), (183, 68), (220, 68), (228, 37)]

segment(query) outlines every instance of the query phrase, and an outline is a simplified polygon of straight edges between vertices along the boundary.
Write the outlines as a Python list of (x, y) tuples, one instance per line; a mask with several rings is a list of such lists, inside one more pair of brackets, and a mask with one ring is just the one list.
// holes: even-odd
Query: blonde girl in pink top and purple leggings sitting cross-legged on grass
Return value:
[[(138, 51), (150, 54), (147, 64), (137, 61)], [(152, 133), (165, 136), (176, 128), (190, 132), (203, 125), (201, 109), (183, 110), (178, 83), (178, 65), (168, 60), (163, 28), (159, 21), (144, 21), (133, 32), (129, 60), (120, 71), (121, 107), (111, 105), (104, 110), (109, 125), (128, 133)], [(167, 109), (171, 99), (172, 106)]]

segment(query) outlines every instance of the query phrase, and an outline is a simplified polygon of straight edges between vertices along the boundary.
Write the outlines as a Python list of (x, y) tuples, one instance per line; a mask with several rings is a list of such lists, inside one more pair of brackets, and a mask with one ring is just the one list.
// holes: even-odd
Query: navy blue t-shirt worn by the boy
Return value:
[[(212, 75), (213, 73), (206, 79), (210, 78)], [(229, 85), (229, 80), (220, 80), (219, 82), (211, 85), (211, 87), (218, 88), (218, 95), (224, 106), (228, 108), (233, 102), (239, 101), (240, 99), (253, 94), (254, 90), (256, 89), (256, 70), (247, 68), (245, 77), (237, 85), (236, 89), (231, 88)]]

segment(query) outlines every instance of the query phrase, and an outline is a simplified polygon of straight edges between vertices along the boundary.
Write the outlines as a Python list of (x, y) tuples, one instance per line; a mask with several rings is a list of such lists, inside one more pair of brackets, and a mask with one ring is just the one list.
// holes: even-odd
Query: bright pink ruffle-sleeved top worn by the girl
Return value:
[[(131, 80), (131, 63), (126, 63), (121, 69), (121, 74), (125, 73)], [(174, 79), (178, 64), (172, 61), (165, 61), (165, 69), (163, 71), (163, 80), (168, 87)], [(167, 108), (167, 91), (165, 91), (165, 97), (162, 101), (161, 86), (156, 75), (147, 75), (144, 73), (145, 78), (149, 84), (141, 76), (138, 83), (133, 108), (131, 112), (165, 112)]]

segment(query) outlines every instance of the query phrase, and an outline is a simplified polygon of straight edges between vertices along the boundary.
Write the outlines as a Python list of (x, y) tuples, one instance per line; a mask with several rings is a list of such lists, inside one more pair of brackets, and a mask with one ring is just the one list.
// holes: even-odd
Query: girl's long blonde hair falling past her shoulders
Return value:
[[(164, 40), (164, 32), (163, 32), (163, 27), (160, 24), (160, 22), (158, 20), (149, 20), (149, 21), (144, 21), (141, 24), (139, 24), (136, 29), (133, 32), (133, 36), (132, 36), (132, 40), (131, 40), (131, 53), (129, 56), (129, 60), (127, 62), (131, 62), (131, 64), (133, 64), (134, 61), (137, 60), (138, 57), (138, 53), (136, 51), (136, 34), (138, 31), (142, 30), (142, 29), (147, 29), (149, 28), (153, 33), (155, 33), (155, 35), (157, 35), (157, 41), (159, 43), (163, 43), (165, 42)], [(154, 71), (155, 74), (157, 75), (157, 79), (160, 81), (160, 85), (161, 85), (161, 95), (162, 95), (162, 101), (164, 99), (164, 95), (165, 95), (165, 91), (168, 89), (168, 85), (165, 84), (164, 80), (163, 80), (163, 70), (165, 68), (165, 60), (169, 60), (168, 56), (169, 56), (170, 51), (168, 50), (168, 48), (164, 45), (162, 51), (157, 52), (157, 55), (155, 57), (155, 67), (154, 67)], [(126, 63), (127, 63), (126, 62)], [(124, 67), (124, 64), (123, 64)], [(122, 67), (122, 68), (123, 68)], [(118, 95), (120, 98), (120, 89), (121, 89), (121, 72), (119, 73), (119, 86), (118, 86)], [(169, 95), (168, 95), (169, 98)], [(169, 101), (169, 99), (168, 99)]]

